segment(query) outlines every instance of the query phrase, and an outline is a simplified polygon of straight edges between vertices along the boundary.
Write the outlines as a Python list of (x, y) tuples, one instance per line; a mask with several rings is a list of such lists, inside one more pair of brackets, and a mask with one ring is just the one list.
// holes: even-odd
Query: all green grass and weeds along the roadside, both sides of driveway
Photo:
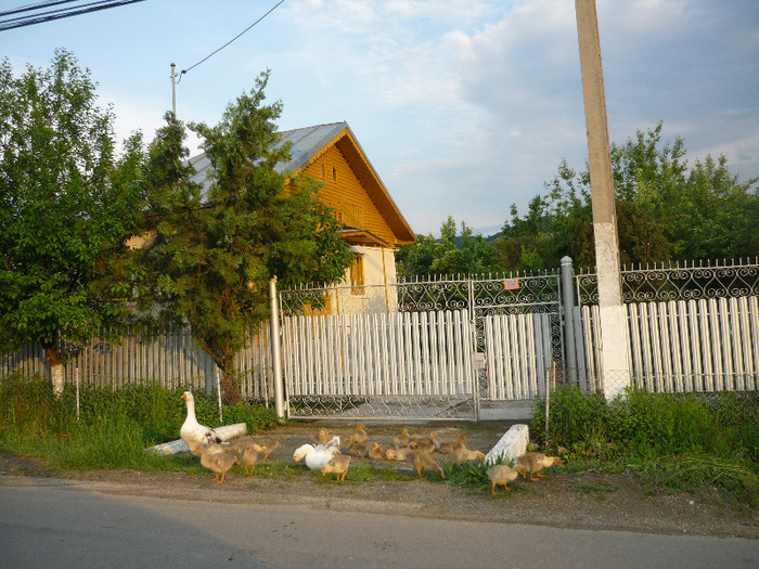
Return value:
[[(157, 456), (146, 447), (178, 437), (184, 421), (183, 389), (157, 386), (128, 387), (119, 391), (81, 389), (79, 418), (74, 390), (60, 398), (40, 377), (11, 375), (0, 378), (0, 452), (40, 458), (57, 469), (134, 469), (205, 471), (193, 456)], [(218, 424), (215, 398), (196, 393), (196, 413), (204, 424)], [(224, 422), (245, 423), (256, 434), (278, 424), (273, 410), (239, 403), (223, 409)], [(530, 434), (543, 442), (544, 412), (537, 403)], [(476, 429), (476, 425), (464, 425)], [(759, 398), (756, 393), (666, 396), (629, 390), (626, 398), (606, 401), (578, 389), (552, 393), (549, 454), (566, 458), (564, 469), (546, 473), (573, 475), (569, 488), (577, 493), (603, 497), (614, 489), (574, 476), (629, 474), (649, 493), (681, 490), (692, 493), (719, 490), (729, 502), (755, 510), (759, 507)], [(563, 449), (563, 450), (561, 450)], [(244, 470), (235, 466), (240, 474)], [(473, 492), (489, 492), (487, 466), (445, 464), (446, 483)], [(334, 481), (304, 466), (265, 462), (250, 477)], [(434, 471), (430, 482), (442, 482)], [(357, 461), (345, 483), (410, 481), (416, 476), (391, 467)], [(511, 484), (510, 484), (511, 486)], [(530, 491), (519, 479), (517, 492)], [(503, 492), (501, 492), (503, 493)]]

